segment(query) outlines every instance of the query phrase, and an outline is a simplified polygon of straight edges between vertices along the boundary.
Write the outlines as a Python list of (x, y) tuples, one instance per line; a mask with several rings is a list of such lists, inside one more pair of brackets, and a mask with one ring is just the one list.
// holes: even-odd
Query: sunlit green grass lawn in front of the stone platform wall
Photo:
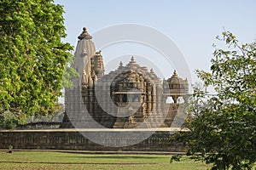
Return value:
[(0, 169), (207, 169), (208, 165), (183, 158), (170, 163), (166, 155), (88, 155), (44, 151), (0, 152)]

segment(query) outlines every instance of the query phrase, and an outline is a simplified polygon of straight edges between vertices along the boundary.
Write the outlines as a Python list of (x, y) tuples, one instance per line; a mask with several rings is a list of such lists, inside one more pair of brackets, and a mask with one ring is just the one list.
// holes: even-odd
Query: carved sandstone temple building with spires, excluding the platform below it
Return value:
[(78, 38), (73, 68), (80, 77), (73, 79), (74, 88), (65, 91), (67, 113), (61, 127), (171, 127), (178, 101), (188, 99), (187, 79), (173, 71), (160, 80), (133, 56), (127, 65), (120, 61), (115, 71), (105, 74), (101, 51), (96, 52), (86, 28)]

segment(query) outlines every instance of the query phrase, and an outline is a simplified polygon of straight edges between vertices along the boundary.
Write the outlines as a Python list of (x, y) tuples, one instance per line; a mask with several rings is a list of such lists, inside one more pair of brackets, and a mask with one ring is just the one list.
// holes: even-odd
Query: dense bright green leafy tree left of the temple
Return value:
[(50, 109), (61, 95), (73, 49), (61, 42), (63, 12), (53, 0), (0, 2), (0, 120), (5, 112), (19, 120)]

